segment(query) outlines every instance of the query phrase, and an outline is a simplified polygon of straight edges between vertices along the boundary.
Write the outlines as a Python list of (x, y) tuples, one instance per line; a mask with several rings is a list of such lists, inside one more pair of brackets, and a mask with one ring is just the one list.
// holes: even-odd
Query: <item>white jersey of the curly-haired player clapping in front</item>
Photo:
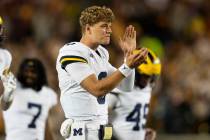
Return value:
[(105, 97), (96, 98), (80, 86), (91, 74), (105, 78), (116, 69), (108, 62), (109, 54), (98, 46), (97, 51), (80, 42), (64, 45), (57, 58), (61, 105), (66, 118), (96, 120), (101, 124), (108, 121), (108, 106)]

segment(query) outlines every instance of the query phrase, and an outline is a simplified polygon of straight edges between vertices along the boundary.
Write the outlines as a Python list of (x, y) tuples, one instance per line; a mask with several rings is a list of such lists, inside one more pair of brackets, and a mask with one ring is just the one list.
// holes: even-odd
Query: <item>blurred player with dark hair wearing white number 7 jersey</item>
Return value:
[(45, 138), (49, 111), (57, 104), (57, 96), (47, 86), (43, 64), (38, 59), (24, 59), (18, 70), (18, 86), (14, 99), (3, 112), (6, 140), (52, 140)]

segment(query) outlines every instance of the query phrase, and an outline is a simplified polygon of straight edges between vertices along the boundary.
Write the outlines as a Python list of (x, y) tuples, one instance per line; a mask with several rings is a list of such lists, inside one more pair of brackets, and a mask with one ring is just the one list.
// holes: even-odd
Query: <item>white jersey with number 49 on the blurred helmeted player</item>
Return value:
[(132, 92), (115, 89), (107, 95), (108, 106), (112, 108), (109, 121), (117, 139), (144, 140), (151, 92), (152, 88), (147, 86), (144, 89), (135, 87)]

